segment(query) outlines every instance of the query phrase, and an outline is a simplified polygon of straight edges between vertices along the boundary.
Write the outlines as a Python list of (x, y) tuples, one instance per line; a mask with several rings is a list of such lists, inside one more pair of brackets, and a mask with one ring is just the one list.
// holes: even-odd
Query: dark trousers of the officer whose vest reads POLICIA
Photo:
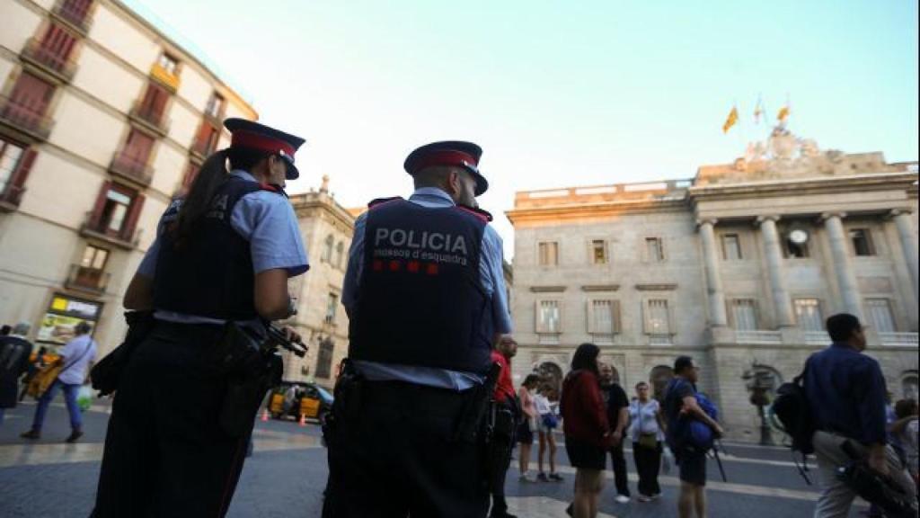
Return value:
[(454, 438), (472, 391), (339, 380), (324, 518), (482, 518), (484, 445)]

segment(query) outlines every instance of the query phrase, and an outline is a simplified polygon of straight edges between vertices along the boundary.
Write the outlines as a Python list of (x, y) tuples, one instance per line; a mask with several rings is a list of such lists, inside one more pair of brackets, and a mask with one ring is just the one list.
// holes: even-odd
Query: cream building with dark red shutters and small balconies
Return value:
[(117, 0), (0, 3), (0, 322), (100, 354), (171, 197), (257, 113), (201, 56)]

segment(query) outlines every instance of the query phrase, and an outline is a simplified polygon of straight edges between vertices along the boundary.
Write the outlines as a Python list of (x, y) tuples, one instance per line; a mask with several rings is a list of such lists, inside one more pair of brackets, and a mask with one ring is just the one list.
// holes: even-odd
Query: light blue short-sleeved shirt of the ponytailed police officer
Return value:
[[(247, 171), (235, 170), (230, 174), (248, 182), (256, 182), (255, 177)], [(288, 277), (296, 277), (310, 269), (304, 241), (297, 227), (297, 216), (286, 197), (270, 191), (255, 191), (244, 195), (234, 206), (230, 215), (230, 226), (243, 239), (249, 241), (254, 274), (284, 268), (288, 272)], [(144, 277), (155, 276), (156, 256), (160, 250), (160, 235), (163, 230), (164, 220), (161, 218), (156, 239), (147, 249), (144, 260), (137, 268), (137, 273)], [(222, 320), (162, 310), (156, 310), (154, 316), (158, 320), (183, 324), (224, 324)]]

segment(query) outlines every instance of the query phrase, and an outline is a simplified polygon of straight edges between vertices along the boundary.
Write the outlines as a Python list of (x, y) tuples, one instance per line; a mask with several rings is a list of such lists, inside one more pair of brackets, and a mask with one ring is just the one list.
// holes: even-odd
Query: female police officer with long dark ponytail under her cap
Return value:
[(128, 310), (153, 310), (155, 324), (120, 376), (96, 518), (224, 516), (251, 424), (242, 434), (221, 426), (230, 380), (213, 352), (228, 323), (264, 335), (290, 316), (288, 277), (309, 268), (282, 190), (299, 175), (304, 139), (241, 119), (224, 126), (231, 146), (169, 206), (124, 296)]

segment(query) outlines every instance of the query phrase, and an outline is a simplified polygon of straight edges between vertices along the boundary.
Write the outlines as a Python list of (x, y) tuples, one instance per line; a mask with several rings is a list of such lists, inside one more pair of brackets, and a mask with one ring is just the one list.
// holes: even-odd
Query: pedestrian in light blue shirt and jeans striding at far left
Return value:
[(67, 342), (61, 349), (57, 362), (62, 365), (61, 371), (51, 386), (41, 394), (39, 405), (35, 408), (35, 417), (32, 418), (32, 428), (19, 434), (23, 439), (36, 440), (41, 437), (41, 427), (48, 413), (57, 391), (63, 390), (64, 402), (67, 404), (67, 413), (70, 415), (70, 435), (66, 442), (76, 442), (83, 437), (83, 411), (76, 403), (76, 396), (80, 387), (86, 383), (86, 371), (96, 359), (96, 340), (89, 336), (92, 327), (85, 321), (80, 321), (74, 327), (75, 337)]

